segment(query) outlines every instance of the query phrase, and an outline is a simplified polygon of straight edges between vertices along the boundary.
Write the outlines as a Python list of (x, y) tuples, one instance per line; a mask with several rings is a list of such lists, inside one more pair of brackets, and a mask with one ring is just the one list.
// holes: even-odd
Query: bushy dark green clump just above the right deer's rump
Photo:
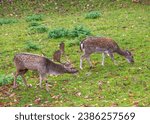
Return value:
[(79, 36), (87, 36), (91, 35), (90, 30), (84, 28), (83, 26), (75, 26), (72, 30), (69, 32), (69, 37), (79, 37)]

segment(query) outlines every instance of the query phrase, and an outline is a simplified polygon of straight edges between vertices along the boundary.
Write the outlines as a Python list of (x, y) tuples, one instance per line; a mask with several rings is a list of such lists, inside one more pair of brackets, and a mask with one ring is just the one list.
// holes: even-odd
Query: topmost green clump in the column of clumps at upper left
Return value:
[(42, 21), (42, 20), (43, 20), (43, 15), (38, 15), (38, 14), (30, 15), (30, 16), (27, 16), (26, 18), (27, 22)]

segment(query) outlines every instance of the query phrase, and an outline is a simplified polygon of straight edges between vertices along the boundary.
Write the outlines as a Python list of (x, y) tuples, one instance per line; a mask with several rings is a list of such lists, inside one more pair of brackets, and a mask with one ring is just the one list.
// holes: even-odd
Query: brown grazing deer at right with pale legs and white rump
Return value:
[(124, 51), (120, 49), (118, 44), (113, 41), (111, 38), (105, 37), (88, 37), (84, 39), (80, 43), (80, 49), (84, 52), (84, 54), (80, 58), (80, 68), (82, 69), (82, 61), (84, 58), (88, 61), (90, 67), (92, 67), (92, 63), (90, 61), (90, 55), (95, 52), (102, 53), (102, 65), (104, 66), (105, 54), (108, 54), (112, 61), (114, 61), (113, 53), (118, 53), (121, 56), (124, 56), (129, 63), (133, 63), (134, 59), (128, 50)]

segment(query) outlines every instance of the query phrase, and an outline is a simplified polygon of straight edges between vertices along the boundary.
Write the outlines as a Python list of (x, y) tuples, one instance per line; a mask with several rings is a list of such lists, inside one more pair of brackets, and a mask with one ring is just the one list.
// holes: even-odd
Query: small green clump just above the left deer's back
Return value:
[(33, 43), (32, 41), (27, 41), (25, 45), (25, 49), (26, 50), (39, 50), (40, 47), (37, 44)]

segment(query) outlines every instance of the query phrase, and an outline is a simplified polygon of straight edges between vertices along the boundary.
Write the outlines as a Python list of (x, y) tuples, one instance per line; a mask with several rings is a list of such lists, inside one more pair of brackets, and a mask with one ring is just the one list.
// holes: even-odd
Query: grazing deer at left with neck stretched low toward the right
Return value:
[(62, 64), (56, 64), (46, 57), (28, 53), (20, 53), (15, 55), (14, 63), (17, 70), (14, 76), (14, 88), (17, 86), (16, 78), (18, 75), (21, 75), (24, 84), (27, 86), (24, 74), (28, 70), (38, 71), (40, 76), (40, 87), (46, 74), (59, 75), (64, 73), (73, 74), (78, 72), (76, 69), (67, 68)]

